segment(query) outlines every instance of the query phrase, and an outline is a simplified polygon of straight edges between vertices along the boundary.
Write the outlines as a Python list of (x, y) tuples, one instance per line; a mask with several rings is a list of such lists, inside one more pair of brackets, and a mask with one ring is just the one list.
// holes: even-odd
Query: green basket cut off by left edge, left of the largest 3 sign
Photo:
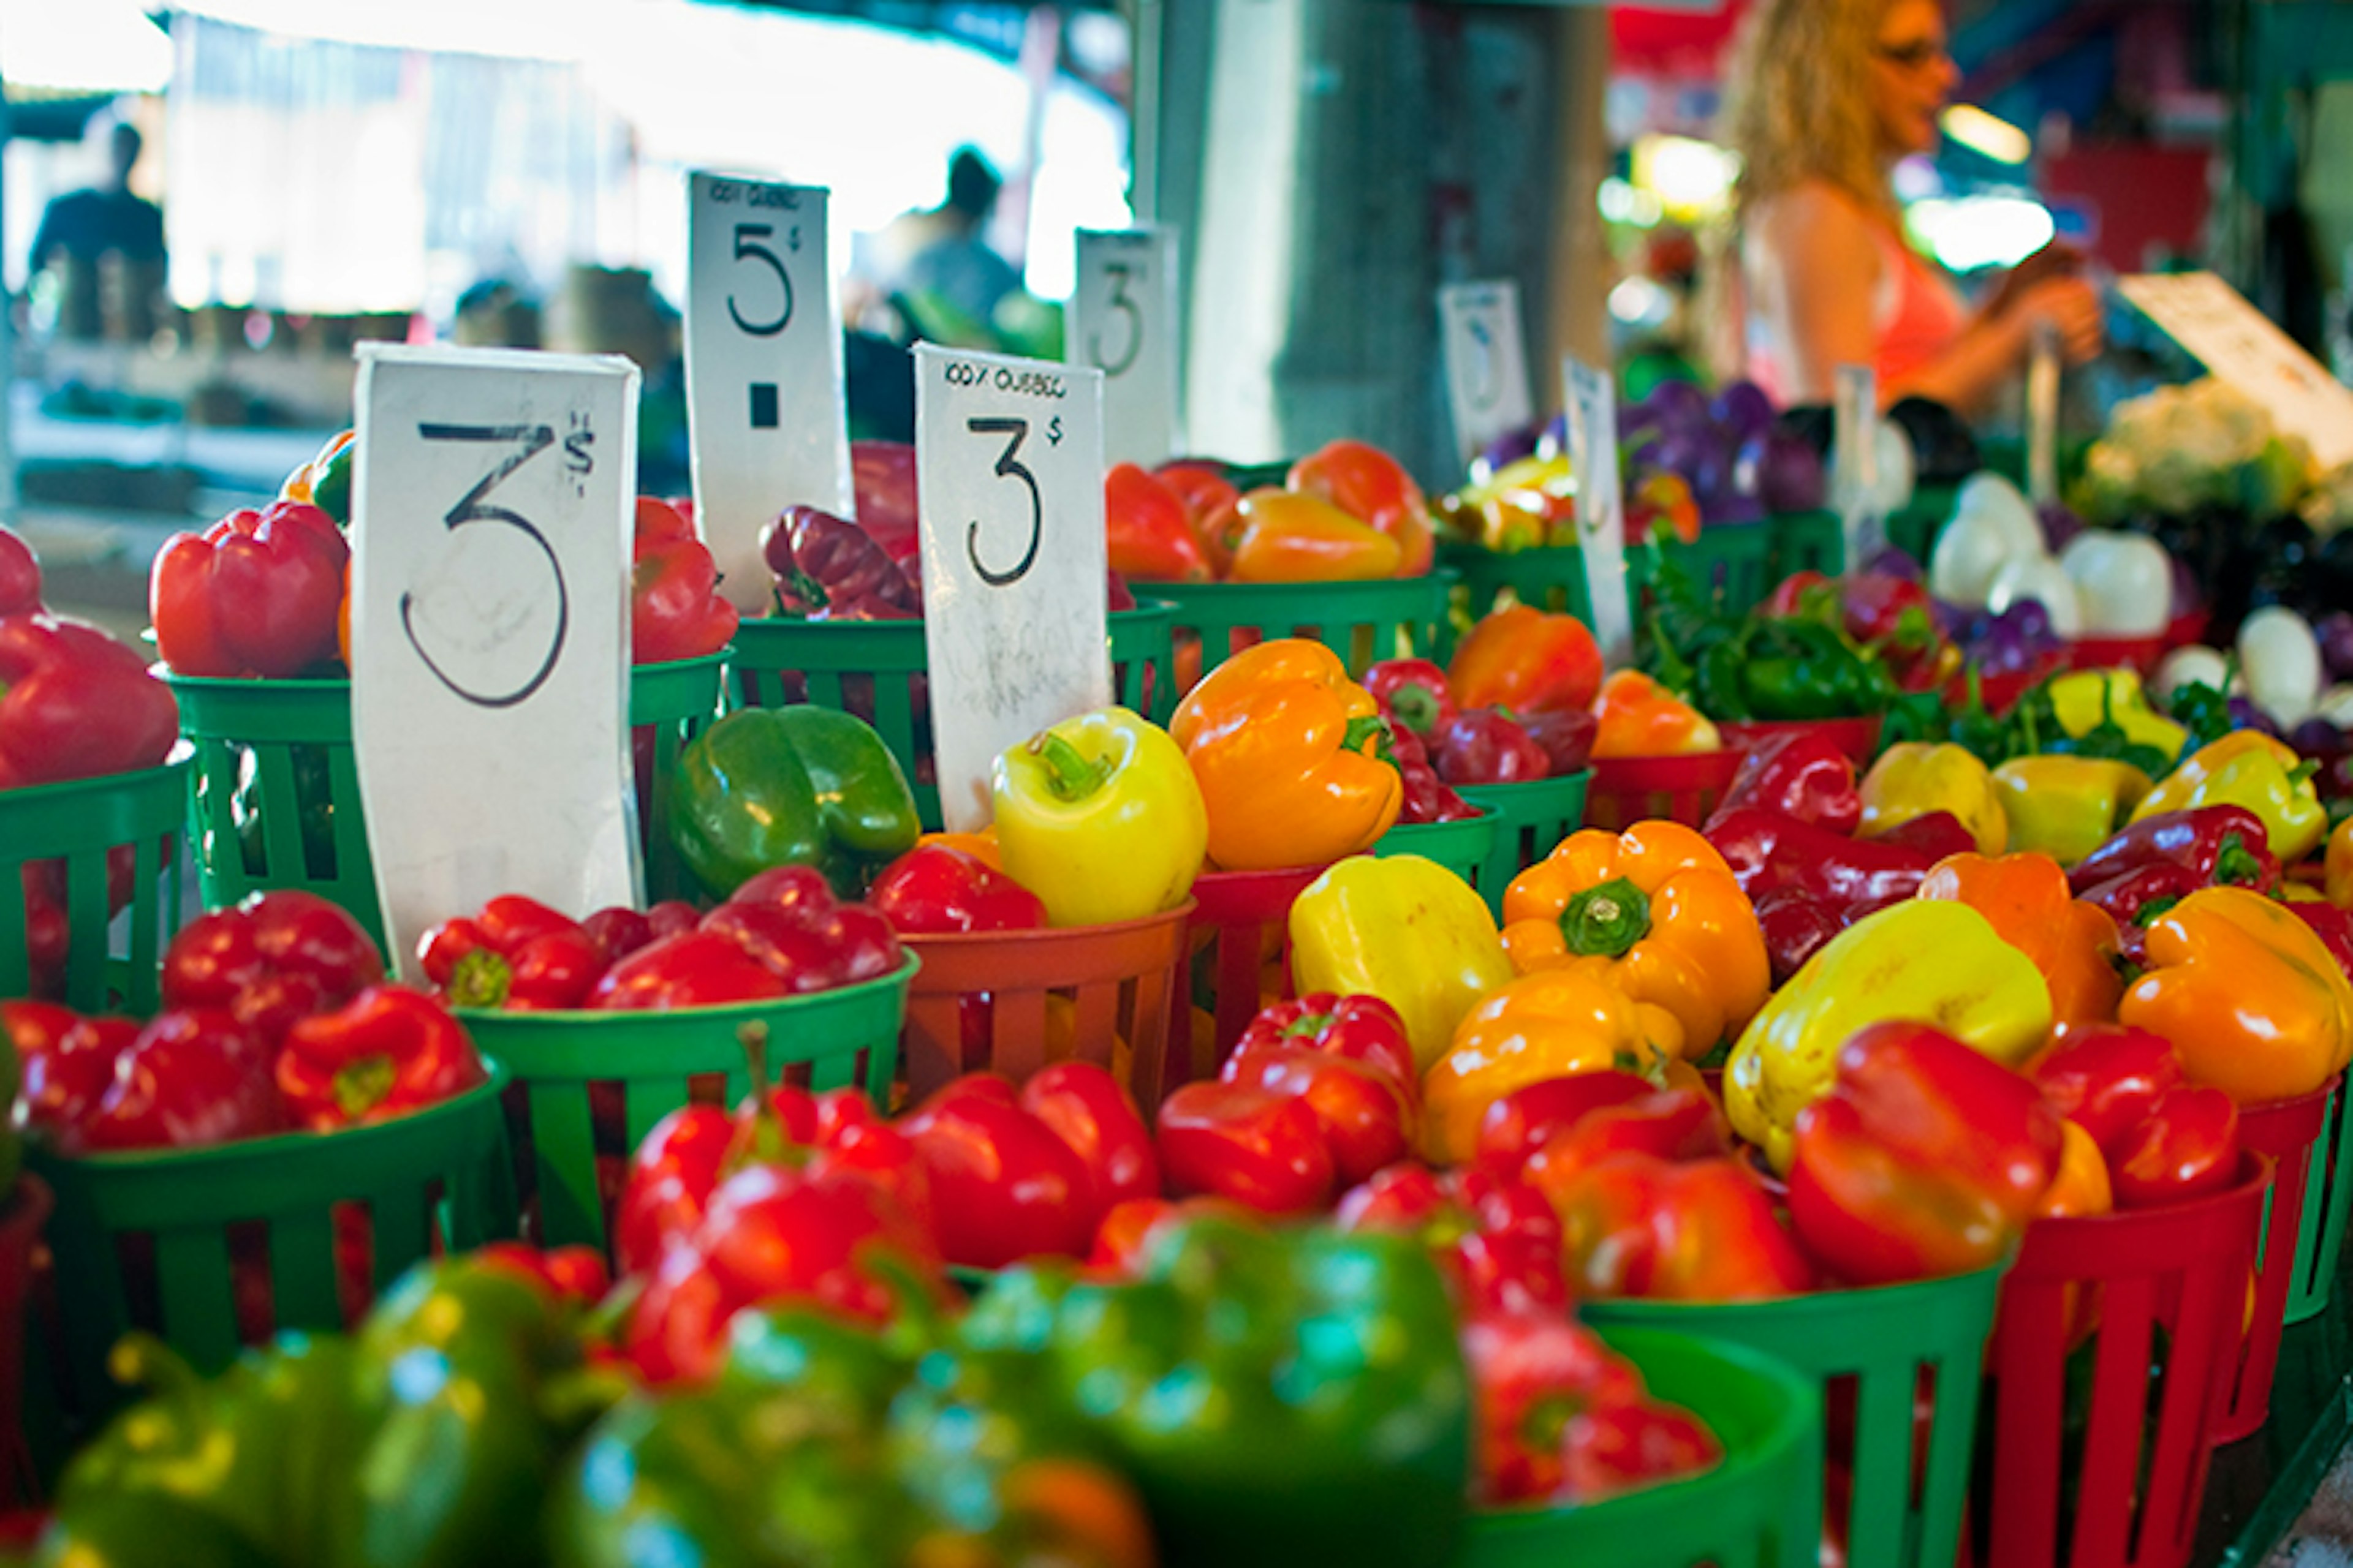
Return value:
[[(176, 748), (160, 769), (0, 790), (0, 997), (38, 990), (85, 1013), (155, 1011), (162, 945), (179, 924), (186, 773), (188, 748)], [(64, 969), (45, 964), (38, 987), (28, 865), (66, 914)]]

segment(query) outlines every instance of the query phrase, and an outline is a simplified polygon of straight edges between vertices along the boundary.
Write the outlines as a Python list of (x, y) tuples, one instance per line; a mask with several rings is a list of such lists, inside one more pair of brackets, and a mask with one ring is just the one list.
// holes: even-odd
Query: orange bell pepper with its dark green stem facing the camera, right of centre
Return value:
[(1607, 961), (1628, 997), (1675, 1016), (1692, 1056), (1737, 1034), (1772, 987), (1748, 896), (1680, 823), (1572, 832), (1504, 891), (1504, 952), (1520, 973)]

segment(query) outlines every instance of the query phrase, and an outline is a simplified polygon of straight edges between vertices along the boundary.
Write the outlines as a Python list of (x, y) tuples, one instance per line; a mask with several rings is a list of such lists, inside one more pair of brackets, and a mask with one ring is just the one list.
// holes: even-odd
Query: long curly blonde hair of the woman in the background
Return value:
[(1760, 0), (1727, 73), (1722, 139), (1741, 155), (1734, 209), (1826, 179), (1894, 216), (1871, 118), (1871, 54), (1887, 0)]

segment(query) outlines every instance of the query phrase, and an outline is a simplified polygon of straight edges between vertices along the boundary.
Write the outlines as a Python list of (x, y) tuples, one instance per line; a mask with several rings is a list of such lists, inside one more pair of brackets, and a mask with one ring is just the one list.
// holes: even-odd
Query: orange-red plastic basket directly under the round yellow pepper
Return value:
[(1186, 926), (1193, 900), (1113, 926), (904, 938), (922, 969), (906, 994), (906, 1084), (922, 1098), (962, 1072), (1014, 1084), (1056, 1060), (1122, 1077), (1151, 1117), (1191, 1063), (1184, 1039)]

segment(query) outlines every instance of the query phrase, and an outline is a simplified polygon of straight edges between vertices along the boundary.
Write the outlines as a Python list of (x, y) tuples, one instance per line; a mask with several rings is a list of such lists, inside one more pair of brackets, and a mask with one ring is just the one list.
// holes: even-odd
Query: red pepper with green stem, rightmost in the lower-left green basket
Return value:
[(405, 985), (372, 985), (299, 1020), (278, 1053), (278, 1093), (313, 1133), (405, 1117), (487, 1081), (464, 1025)]

